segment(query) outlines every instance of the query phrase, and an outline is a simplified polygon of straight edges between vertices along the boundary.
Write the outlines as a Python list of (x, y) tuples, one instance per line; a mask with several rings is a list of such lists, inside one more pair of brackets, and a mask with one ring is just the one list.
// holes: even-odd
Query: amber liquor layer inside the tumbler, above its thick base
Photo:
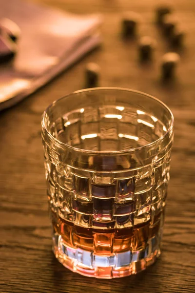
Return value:
[(130, 228), (106, 230), (79, 227), (54, 212), (51, 217), (54, 230), (61, 235), (65, 245), (104, 255), (145, 249), (148, 240), (158, 235), (162, 226), (162, 212), (156, 215), (154, 223), (150, 220)]

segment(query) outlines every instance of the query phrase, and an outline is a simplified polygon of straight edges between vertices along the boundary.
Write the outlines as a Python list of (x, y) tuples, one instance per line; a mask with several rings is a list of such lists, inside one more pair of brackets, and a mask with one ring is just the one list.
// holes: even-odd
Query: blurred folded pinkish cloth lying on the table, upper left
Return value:
[(0, 0), (0, 19), (21, 30), (18, 53), (0, 65), (0, 109), (14, 105), (101, 42), (99, 15), (78, 16), (20, 0)]

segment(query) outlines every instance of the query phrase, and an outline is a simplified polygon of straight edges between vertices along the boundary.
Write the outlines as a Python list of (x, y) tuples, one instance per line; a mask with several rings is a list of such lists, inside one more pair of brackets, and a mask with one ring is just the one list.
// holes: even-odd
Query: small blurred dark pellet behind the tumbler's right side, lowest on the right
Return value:
[(162, 80), (170, 80), (175, 77), (176, 65), (180, 57), (175, 52), (166, 53), (162, 60)]

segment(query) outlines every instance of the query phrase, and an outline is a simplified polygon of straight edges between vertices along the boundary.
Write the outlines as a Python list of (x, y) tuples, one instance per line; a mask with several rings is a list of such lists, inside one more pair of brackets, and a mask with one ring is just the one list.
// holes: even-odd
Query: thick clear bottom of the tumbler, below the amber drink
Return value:
[(59, 262), (71, 270), (88, 277), (112, 279), (136, 274), (154, 264), (160, 255), (160, 249), (154, 251), (139, 250), (113, 253), (110, 255), (94, 255), (90, 251), (61, 245), (61, 236), (53, 237), (53, 251)]

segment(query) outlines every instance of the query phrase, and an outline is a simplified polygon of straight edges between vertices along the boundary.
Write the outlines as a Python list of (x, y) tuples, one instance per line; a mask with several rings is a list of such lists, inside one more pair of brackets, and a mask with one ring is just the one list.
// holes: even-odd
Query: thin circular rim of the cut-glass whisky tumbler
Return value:
[[(161, 106), (163, 106), (164, 108), (166, 108), (170, 114), (170, 118), (171, 118), (171, 124), (169, 126), (169, 128), (167, 129), (167, 131), (165, 132), (165, 134), (163, 136), (161, 136), (160, 138), (158, 138), (157, 140), (155, 140), (154, 142), (144, 145), (144, 146), (137, 146), (134, 148), (129, 148), (129, 149), (124, 149), (124, 150), (88, 150), (88, 149), (84, 149), (84, 148), (78, 148), (75, 146), (70, 146), (68, 144), (62, 143), (60, 140), (58, 140), (56, 137), (54, 137), (47, 129), (46, 125), (45, 125), (45, 116), (47, 114), (47, 111), (54, 106), (55, 104), (57, 104), (59, 101), (61, 100), (65, 100), (66, 98), (68, 98), (70, 95), (74, 95), (74, 94), (78, 94), (78, 93), (83, 93), (83, 92), (90, 92), (90, 91), (98, 91), (98, 90), (118, 90), (118, 91), (128, 91), (130, 93), (135, 93), (135, 94), (139, 94), (142, 96), (146, 96), (148, 98), (150, 98), (151, 100), (155, 100), (157, 103), (159, 103)], [(43, 114), (42, 114), (42, 119), (41, 119), (41, 126), (42, 128), (46, 131), (46, 134), (49, 136), (49, 138), (51, 140), (53, 140), (57, 145), (61, 146), (62, 148), (69, 148), (72, 149), (74, 151), (78, 151), (78, 152), (83, 152), (83, 153), (88, 153), (88, 154), (99, 154), (99, 155), (116, 155), (116, 154), (124, 154), (124, 153), (132, 153), (132, 152), (136, 152), (136, 151), (140, 151), (140, 150), (144, 150), (147, 148), (150, 148), (154, 145), (156, 145), (156, 143), (160, 143), (161, 141), (164, 140), (164, 138), (169, 135), (169, 133), (173, 130), (173, 126), (174, 126), (174, 116), (172, 111), (170, 110), (170, 108), (164, 104), (162, 101), (160, 101), (159, 99), (157, 99), (156, 97), (146, 94), (144, 92), (138, 91), (138, 90), (134, 90), (134, 89), (129, 89), (129, 88), (123, 88), (123, 87), (112, 87), (112, 86), (105, 86), (105, 87), (93, 87), (93, 88), (85, 88), (85, 89), (80, 89), (77, 91), (74, 91), (72, 93), (69, 93), (65, 96), (62, 96), (59, 99), (56, 99), (53, 103), (51, 103), (50, 105), (47, 106), (47, 108), (44, 110)]]

